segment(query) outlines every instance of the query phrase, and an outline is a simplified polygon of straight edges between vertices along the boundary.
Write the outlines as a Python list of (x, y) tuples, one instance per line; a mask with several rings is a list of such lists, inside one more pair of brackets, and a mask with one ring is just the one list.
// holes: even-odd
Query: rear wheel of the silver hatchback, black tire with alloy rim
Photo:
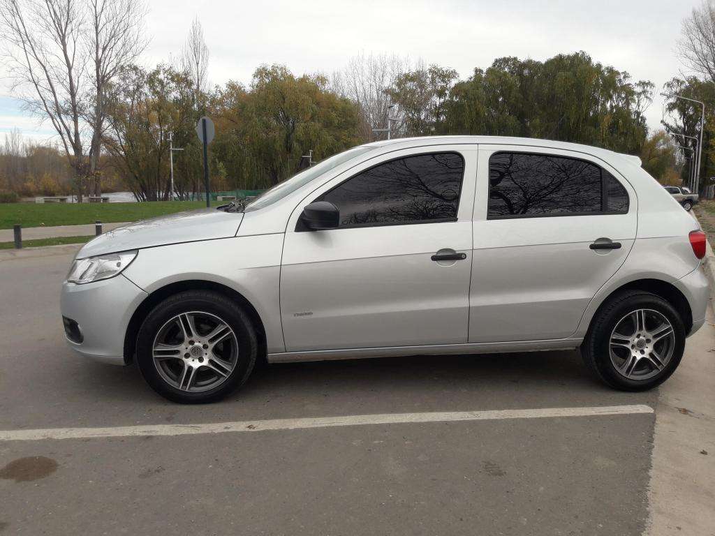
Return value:
[[(644, 312), (645, 329), (636, 326), (638, 311)], [(656, 322), (663, 323), (658, 327)], [(666, 322), (672, 334), (666, 334)], [(635, 330), (633, 334), (629, 327)], [(621, 292), (594, 315), (581, 344), (581, 355), (601, 382), (623, 391), (644, 391), (673, 374), (683, 357), (685, 336), (683, 321), (669, 302), (650, 292)], [(643, 347), (639, 339), (644, 339)]]

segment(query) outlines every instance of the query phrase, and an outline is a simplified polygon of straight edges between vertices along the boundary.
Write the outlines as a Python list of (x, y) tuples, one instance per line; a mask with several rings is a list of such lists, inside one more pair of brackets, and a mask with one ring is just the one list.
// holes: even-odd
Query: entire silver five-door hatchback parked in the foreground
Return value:
[[(705, 235), (637, 157), (508, 137), (355, 147), (245, 204), (103, 234), (61, 291), (71, 348), (209, 402), (255, 363), (581, 349), (654, 387), (705, 321)], [(405, 359), (405, 366), (409, 360)]]

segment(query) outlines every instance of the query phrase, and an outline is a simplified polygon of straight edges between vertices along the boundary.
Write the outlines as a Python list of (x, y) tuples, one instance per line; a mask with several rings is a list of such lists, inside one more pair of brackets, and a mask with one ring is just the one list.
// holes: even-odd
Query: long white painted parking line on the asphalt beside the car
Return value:
[(0, 441), (79, 440), (98, 437), (135, 437), (157, 435), (223, 434), (227, 432), (263, 432), (265, 430), (302, 430), (358, 425), (396, 425), (410, 422), (453, 422), (502, 419), (543, 419), (553, 417), (598, 417), (653, 413), (645, 405), (601, 407), (551, 407), (534, 410), (487, 410), (473, 412), (386, 413), (382, 415), (345, 415), (342, 417), (307, 417), (258, 421), (214, 422), (201, 425), (145, 425), (106, 428), (45, 428), (40, 430), (2, 430)]

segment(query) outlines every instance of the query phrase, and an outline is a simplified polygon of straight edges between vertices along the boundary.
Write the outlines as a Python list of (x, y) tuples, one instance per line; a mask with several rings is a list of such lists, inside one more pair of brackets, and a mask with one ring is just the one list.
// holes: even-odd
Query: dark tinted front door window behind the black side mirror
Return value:
[(323, 194), (340, 209), (340, 227), (457, 218), (464, 159), (420, 154), (379, 164)]

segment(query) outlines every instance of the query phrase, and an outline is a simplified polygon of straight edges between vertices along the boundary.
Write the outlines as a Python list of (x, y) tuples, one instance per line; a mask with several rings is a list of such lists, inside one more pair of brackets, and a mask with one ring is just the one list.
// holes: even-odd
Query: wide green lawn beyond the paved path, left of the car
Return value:
[(0, 203), (0, 229), (51, 227), (54, 225), (136, 222), (162, 214), (200, 209), (205, 201), (156, 201), (146, 203)]

